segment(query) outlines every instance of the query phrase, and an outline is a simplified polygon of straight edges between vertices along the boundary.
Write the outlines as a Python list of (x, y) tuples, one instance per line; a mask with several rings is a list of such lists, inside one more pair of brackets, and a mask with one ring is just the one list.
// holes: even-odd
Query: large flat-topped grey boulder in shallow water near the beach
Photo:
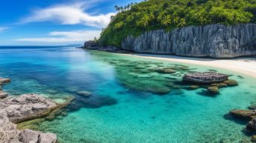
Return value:
[(212, 84), (228, 80), (228, 75), (215, 72), (187, 73), (183, 76), (184, 82), (193, 82), (199, 84)]

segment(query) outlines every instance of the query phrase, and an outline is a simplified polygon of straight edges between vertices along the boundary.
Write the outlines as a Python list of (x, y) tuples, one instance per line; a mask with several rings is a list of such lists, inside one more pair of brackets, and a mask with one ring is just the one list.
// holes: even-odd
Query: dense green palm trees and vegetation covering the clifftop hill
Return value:
[(118, 14), (112, 16), (98, 40), (102, 45), (120, 47), (126, 36), (138, 36), (147, 30), (256, 23), (255, 0), (148, 0), (115, 9)]

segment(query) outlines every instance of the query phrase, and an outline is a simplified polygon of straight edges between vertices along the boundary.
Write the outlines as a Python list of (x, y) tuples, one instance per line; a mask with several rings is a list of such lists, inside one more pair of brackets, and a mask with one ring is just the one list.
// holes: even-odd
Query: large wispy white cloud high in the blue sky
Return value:
[(92, 6), (95, 1), (78, 2), (75, 4), (61, 4), (44, 9), (33, 10), (31, 16), (22, 19), (20, 23), (36, 21), (57, 21), (60, 24), (84, 24), (92, 27), (106, 27), (109, 24), (110, 16), (115, 13), (90, 15), (85, 10)]

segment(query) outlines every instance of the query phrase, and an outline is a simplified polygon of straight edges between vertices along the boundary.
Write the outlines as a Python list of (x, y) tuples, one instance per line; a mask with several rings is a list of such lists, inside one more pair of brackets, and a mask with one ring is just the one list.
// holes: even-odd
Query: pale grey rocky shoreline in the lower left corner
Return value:
[[(0, 86), (10, 79), (0, 78)], [(0, 90), (0, 93), (4, 93)], [(1, 95), (1, 94), (0, 94)], [(4, 96), (0, 99), (0, 142), (1, 143), (56, 143), (57, 135), (36, 130), (18, 130), (16, 123), (43, 118), (67, 106), (69, 102), (58, 104), (37, 94), (18, 97)]]

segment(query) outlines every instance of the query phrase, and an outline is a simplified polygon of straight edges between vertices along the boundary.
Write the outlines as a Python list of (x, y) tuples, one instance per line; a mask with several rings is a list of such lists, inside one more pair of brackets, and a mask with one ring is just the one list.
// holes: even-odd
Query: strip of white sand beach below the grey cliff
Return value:
[(218, 67), (225, 70), (231, 70), (237, 73), (243, 73), (256, 78), (256, 57), (255, 58), (237, 58), (237, 59), (204, 59), (190, 58), (181, 56), (153, 55), (153, 54), (125, 54), (129, 56), (143, 57), (147, 59), (161, 59), (166, 61), (177, 61), (188, 64), (199, 64), (208, 67)]

